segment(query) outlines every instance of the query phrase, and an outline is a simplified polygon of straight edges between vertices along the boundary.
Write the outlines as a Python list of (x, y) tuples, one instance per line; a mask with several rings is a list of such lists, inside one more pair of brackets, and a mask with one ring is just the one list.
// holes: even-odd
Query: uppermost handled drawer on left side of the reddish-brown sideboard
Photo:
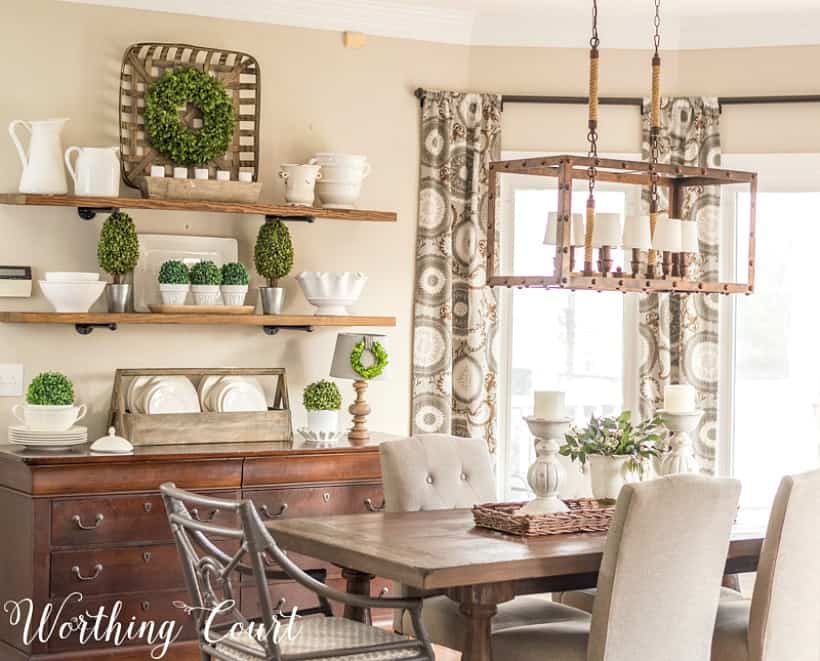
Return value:
[[(238, 491), (211, 494), (225, 500), (239, 498)], [(203, 521), (235, 526), (231, 512), (195, 513)], [(55, 500), (51, 506), (51, 545), (80, 546), (122, 542), (171, 540), (165, 506), (158, 493), (109, 498)]]

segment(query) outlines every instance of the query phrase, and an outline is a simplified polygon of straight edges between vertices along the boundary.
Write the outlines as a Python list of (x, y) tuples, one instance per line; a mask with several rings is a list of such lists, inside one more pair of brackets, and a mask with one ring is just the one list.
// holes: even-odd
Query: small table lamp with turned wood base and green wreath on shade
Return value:
[(356, 390), (356, 400), (348, 409), (353, 416), (353, 428), (347, 440), (353, 446), (367, 445), (370, 433), (367, 431), (367, 416), (370, 406), (364, 398), (369, 381), (384, 381), (388, 375), (388, 345), (386, 335), (367, 333), (339, 333), (330, 376), (337, 379), (351, 379)]

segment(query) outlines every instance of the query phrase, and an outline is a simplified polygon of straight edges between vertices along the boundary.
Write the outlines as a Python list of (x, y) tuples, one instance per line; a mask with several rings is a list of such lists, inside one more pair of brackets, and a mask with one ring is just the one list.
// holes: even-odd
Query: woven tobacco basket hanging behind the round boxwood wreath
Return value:
[[(120, 151), (122, 178), (147, 195), (145, 178), (152, 165), (175, 165), (148, 142), (143, 116), (145, 92), (169, 69), (191, 67), (213, 73), (233, 99), (234, 134), (224, 156), (207, 163), (211, 176), (217, 169), (230, 170), (237, 180), (242, 169), (259, 172), (259, 113), (261, 77), (259, 63), (247, 53), (188, 44), (138, 43), (125, 51), (120, 72)], [(195, 117), (193, 110), (185, 119)], [(178, 165), (178, 164), (177, 164)], [(193, 169), (189, 175), (193, 174)]]

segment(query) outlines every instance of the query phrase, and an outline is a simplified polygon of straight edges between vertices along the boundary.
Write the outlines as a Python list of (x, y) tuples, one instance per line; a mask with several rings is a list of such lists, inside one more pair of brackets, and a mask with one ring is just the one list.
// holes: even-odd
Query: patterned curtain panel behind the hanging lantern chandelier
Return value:
[[(644, 104), (643, 156), (649, 158), (649, 103)], [(663, 100), (660, 160), (673, 165), (720, 167), (720, 108), (715, 98)], [(700, 255), (696, 268), (707, 280), (719, 279), (720, 190), (688, 188), (684, 219), (698, 223)], [(648, 202), (648, 193), (645, 200)], [(666, 201), (662, 199), (662, 208)], [(641, 415), (661, 408), (668, 383), (690, 383), (705, 411), (694, 435), (703, 472), (715, 471), (718, 397), (718, 296), (650, 294), (641, 297), (639, 363)]]

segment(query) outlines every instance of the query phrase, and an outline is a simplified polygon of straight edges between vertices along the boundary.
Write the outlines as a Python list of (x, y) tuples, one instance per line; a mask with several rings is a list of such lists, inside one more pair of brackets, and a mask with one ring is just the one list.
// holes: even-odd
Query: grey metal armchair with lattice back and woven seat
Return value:
[[(276, 545), (250, 500), (229, 501), (192, 494), (166, 483), (160, 487), (168, 521), (179, 551), (203, 661), (434, 661), (421, 622), (420, 599), (375, 599), (334, 590), (297, 567)], [(240, 527), (195, 520), (193, 508), (236, 512)], [(319, 606), (295, 622), (275, 613), (268, 579), (284, 574), (313, 592)], [(261, 618), (243, 615), (236, 600), (239, 578), (252, 579)], [(243, 599), (244, 601), (244, 599)], [(358, 608), (393, 608), (409, 612), (416, 639), (344, 618), (333, 617), (330, 602)], [(220, 606), (221, 605), (221, 606)], [(211, 612), (220, 606), (217, 626)], [(298, 611), (297, 611), (298, 614)], [(278, 626), (277, 626), (278, 623)], [(277, 635), (277, 631), (279, 632)]]

